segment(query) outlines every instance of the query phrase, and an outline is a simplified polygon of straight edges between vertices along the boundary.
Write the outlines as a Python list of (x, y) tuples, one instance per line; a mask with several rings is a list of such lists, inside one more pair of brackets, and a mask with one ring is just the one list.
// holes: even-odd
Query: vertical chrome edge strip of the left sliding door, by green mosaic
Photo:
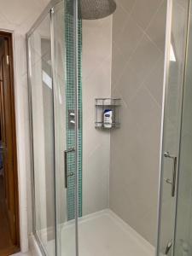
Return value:
[(74, 47), (74, 87), (75, 87), (75, 241), (76, 241), (76, 256), (79, 256), (79, 63), (78, 63), (78, 28), (79, 28), (79, 0), (73, 0), (73, 47)]

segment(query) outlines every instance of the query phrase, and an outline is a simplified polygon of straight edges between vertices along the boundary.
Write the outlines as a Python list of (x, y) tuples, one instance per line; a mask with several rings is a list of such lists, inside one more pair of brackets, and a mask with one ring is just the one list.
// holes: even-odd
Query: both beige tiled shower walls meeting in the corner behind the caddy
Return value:
[[(119, 0), (117, 6), (115, 14), (106, 19), (83, 20), (81, 207), (84, 215), (110, 206), (154, 244), (166, 1)], [(70, 55), (73, 49), (68, 47)], [(111, 134), (94, 127), (94, 99), (102, 96), (123, 100), (121, 128)], [(73, 91), (68, 89), (69, 101), (70, 97)], [(68, 104), (68, 109), (73, 108)], [(73, 146), (73, 135), (69, 130), (68, 148)], [(73, 154), (69, 163), (73, 163)], [(68, 214), (73, 218), (73, 178), (70, 184)]]

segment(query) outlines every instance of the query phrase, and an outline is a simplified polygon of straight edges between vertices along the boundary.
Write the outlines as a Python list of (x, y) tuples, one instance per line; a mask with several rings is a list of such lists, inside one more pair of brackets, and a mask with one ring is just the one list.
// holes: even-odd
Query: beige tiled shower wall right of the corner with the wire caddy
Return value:
[(165, 0), (119, 0), (113, 15), (112, 96), (122, 99), (111, 133), (110, 208), (155, 245)]

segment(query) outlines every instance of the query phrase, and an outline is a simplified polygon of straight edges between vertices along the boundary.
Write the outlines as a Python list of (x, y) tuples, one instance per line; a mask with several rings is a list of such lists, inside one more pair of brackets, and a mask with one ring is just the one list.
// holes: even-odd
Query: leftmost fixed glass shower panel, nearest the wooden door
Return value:
[(35, 234), (47, 255), (55, 255), (55, 150), (50, 16), (29, 38), (32, 93)]

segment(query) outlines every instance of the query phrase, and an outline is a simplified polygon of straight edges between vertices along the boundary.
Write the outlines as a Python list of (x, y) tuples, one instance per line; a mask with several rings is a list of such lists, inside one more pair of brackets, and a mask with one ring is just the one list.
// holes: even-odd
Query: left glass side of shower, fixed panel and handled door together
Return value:
[(77, 1), (50, 2), (27, 33), (33, 233), (42, 252), (50, 256), (78, 255), (77, 14), (73, 15), (73, 3)]

